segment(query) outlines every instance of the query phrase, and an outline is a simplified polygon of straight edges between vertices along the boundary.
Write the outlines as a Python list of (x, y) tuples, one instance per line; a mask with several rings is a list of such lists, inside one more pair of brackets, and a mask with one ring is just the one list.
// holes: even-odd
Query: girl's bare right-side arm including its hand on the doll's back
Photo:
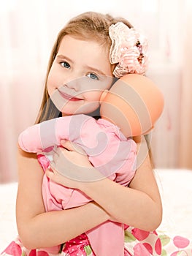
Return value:
[[(142, 146), (146, 149), (147, 144), (145, 140), (142, 143)], [(82, 162), (77, 152), (73, 151), (72, 145), (69, 142), (64, 143), (64, 146), (69, 151), (64, 149), (62, 165), (64, 165), (64, 159), (66, 159), (66, 165), (69, 165), (69, 162), (72, 165), (69, 165), (71, 171), (75, 168), (76, 164), (81, 165), (78, 168), (78, 172), (82, 170), (82, 175), (84, 176), (83, 165), (85, 166), (85, 173), (86, 169), (91, 170), (91, 168), (93, 173), (96, 173), (96, 169), (90, 166), (88, 161), (85, 161), (85, 158), (84, 162)], [(47, 176), (55, 182), (64, 184), (66, 187), (82, 190), (82, 192), (85, 192), (86, 195), (104, 208), (110, 216), (117, 219), (118, 222), (126, 223), (142, 230), (155, 230), (160, 225), (162, 218), (161, 197), (150, 165), (149, 155), (146, 150), (143, 151), (143, 154), (142, 165), (138, 167), (129, 187), (123, 187), (114, 181), (110, 181), (108, 178), (101, 177), (97, 181), (75, 181), (62, 176), (55, 170), (53, 172), (47, 171)], [(60, 162), (60, 166), (62, 165)]]

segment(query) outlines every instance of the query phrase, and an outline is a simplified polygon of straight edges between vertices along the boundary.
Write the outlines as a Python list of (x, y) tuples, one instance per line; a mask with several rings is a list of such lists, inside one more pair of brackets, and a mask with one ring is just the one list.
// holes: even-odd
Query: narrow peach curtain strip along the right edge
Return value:
[(180, 113), (180, 167), (192, 169), (192, 3), (186, 1)]

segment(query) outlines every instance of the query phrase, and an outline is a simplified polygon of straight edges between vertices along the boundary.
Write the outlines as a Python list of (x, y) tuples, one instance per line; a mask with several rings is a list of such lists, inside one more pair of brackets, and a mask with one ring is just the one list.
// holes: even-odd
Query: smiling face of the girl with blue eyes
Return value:
[(96, 41), (66, 35), (58, 49), (47, 80), (56, 108), (65, 115), (91, 113), (112, 84), (109, 53)]

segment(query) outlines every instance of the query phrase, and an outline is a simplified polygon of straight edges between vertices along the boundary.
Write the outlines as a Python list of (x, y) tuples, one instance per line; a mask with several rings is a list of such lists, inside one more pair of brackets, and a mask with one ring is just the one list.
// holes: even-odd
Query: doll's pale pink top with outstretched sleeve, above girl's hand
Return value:
[(134, 177), (136, 143), (127, 139), (114, 124), (101, 118), (96, 120), (81, 114), (43, 121), (23, 131), (18, 142), (24, 151), (37, 153), (54, 145), (60, 146), (61, 139), (80, 146), (104, 176), (111, 176), (124, 186)]

